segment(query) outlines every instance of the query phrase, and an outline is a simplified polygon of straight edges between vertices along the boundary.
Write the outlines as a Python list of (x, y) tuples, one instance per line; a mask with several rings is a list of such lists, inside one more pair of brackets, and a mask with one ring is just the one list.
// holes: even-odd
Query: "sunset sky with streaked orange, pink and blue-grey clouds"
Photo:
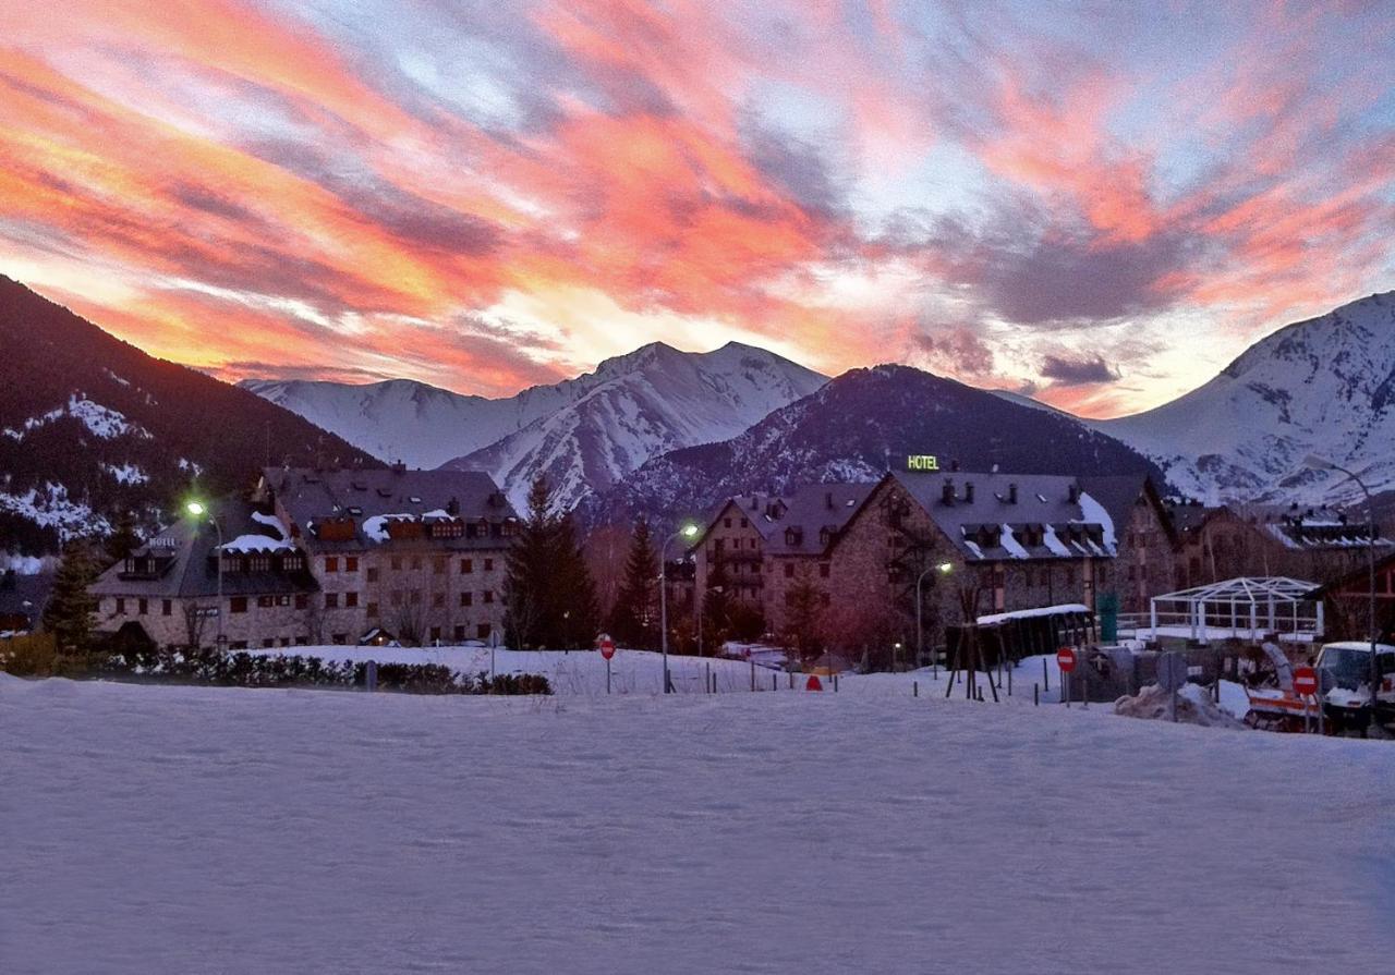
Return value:
[(1395, 0), (0, 0), (0, 273), (229, 381), (737, 340), (1119, 416), (1392, 229)]

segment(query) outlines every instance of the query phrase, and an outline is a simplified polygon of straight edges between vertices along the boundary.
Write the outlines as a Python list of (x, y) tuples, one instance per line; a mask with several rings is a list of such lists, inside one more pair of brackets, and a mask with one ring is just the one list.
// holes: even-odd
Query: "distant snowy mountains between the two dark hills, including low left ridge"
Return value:
[(547, 474), (558, 506), (572, 508), (653, 456), (735, 437), (824, 382), (813, 370), (737, 342), (707, 353), (654, 342), (593, 372), (506, 399), (403, 379), (240, 385), (382, 460), (484, 470), (522, 509), (537, 474)]

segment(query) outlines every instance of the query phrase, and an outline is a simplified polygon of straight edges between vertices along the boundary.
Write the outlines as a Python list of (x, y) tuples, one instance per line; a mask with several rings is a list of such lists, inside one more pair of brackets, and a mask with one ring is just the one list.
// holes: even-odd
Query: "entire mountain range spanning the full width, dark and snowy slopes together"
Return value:
[[(545, 473), (590, 522), (674, 516), (734, 491), (873, 478), (907, 452), (1024, 473), (1152, 471), (1225, 498), (1352, 501), (1352, 467), (1395, 497), (1395, 294), (1251, 346), (1196, 391), (1081, 420), (904, 365), (836, 379), (763, 349), (653, 343), (516, 396), (395, 379), (230, 388), (155, 360), (0, 278), (0, 551), (52, 551), (119, 511), (152, 523), (191, 484), (227, 490), (264, 460), (480, 469), (520, 504)], [(254, 395), (255, 393), (255, 395)]]

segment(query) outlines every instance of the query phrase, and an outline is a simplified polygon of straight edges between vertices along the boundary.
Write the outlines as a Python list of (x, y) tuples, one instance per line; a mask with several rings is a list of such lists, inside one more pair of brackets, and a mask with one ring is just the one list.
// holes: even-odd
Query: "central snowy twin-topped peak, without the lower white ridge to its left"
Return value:
[(653, 456), (735, 437), (826, 378), (734, 342), (700, 354), (657, 342), (575, 382), (586, 392), (573, 403), (446, 466), (488, 471), (520, 511), (531, 480), (547, 474), (571, 508)]

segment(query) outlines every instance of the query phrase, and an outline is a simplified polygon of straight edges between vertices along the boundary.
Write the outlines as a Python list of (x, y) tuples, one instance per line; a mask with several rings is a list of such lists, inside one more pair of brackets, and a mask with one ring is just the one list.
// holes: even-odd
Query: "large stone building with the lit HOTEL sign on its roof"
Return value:
[(820, 642), (855, 651), (870, 642), (908, 649), (918, 590), (926, 644), (965, 608), (1094, 608), (1113, 584), (1116, 538), (1076, 478), (908, 470), (731, 498), (695, 551), (699, 591), (720, 561), (773, 633), (808, 625), (812, 600)]

